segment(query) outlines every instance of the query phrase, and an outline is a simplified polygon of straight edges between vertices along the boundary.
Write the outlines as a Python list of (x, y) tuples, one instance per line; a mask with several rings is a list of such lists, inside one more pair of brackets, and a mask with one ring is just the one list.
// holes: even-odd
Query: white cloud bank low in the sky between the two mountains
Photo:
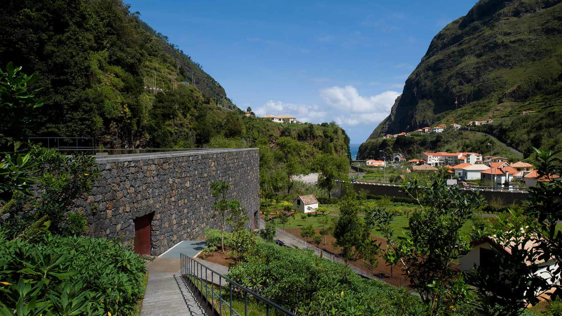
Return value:
[(400, 92), (385, 91), (374, 96), (364, 97), (352, 85), (331, 87), (320, 90), (325, 105), (303, 105), (268, 101), (253, 111), (260, 116), (267, 114), (295, 116), (301, 122), (321, 123), (336, 121), (342, 126), (368, 124), (372, 129), (390, 113), (392, 105)]

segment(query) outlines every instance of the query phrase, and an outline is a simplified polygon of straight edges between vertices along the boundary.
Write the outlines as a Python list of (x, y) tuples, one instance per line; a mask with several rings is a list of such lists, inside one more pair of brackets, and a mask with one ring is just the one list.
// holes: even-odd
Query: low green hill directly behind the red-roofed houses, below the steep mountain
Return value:
[[(492, 144), (489, 146), (488, 144)], [(511, 161), (521, 158), (511, 152), (496, 138), (480, 132), (451, 131), (445, 133), (411, 133), (410, 136), (397, 138), (369, 139), (359, 146), (357, 156), (360, 159), (373, 156), (379, 157), (380, 150), (387, 153), (387, 157), (395, 153), (405, 155), (410, 159), (422, 159), (422, 152), (478, 152), (484, 156), (502, 156)]]

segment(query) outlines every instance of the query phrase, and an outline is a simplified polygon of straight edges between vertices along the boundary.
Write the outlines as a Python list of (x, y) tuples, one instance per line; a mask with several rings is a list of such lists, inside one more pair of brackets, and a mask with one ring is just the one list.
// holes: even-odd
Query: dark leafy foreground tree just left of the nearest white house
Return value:
[[(451, 263), (470, 250), (459, 231), (484, 204), (484, 198), (479, 193), (462, 191), (458, 186), (449, 188), (445, 180), (437, 177), (430, 187), (420, 187), (414, 180), (404, 186), (404, 191), (415, 198), (419, 209), (411, 214), (409, 231), (404, 236), (398, 240), (387, 237), (390, 245), (387, 258), (398, 262), (429, 314), (437, 315), (444, 308), (442, 304), (454, 306), (467, 297), (468, 287)], [(392, 216), (373, 210), (367, 214), (367, 221), (390, 236), (387, 224)], [(393, 256), (400, 259), (393, 259)], [(449, 288), (451, 285), (457, 289), (455, 295)]]

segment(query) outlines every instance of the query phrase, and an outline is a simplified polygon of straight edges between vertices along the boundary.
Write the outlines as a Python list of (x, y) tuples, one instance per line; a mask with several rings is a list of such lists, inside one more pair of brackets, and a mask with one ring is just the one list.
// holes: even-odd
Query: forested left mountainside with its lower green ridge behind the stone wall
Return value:
[(31, 88), (41, 88), (46, 103), (25, 126), (0, 124), (0, 136), (19, 128), (29, 136), (93, 137), (105, 148), (259, 147), (260, 184), (270, 198), (297, 192), (292, 176), (318, 171), (323, 161), (346, 169), (349, 137), (336, 123), (246, 116), (139, 16), (121, 0), (3, 3), (0, 67), (12, 61), (24, 74), (38, 71)]

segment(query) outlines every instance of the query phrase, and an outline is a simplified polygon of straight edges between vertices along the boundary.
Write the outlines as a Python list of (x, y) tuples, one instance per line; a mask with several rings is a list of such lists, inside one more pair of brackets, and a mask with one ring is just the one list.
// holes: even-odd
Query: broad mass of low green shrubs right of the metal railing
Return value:
[(250, 290), (303, 315), (345, 315), (346, 308), (378, 315), (375, 306), (389, 312), (420, 304), (419, 297), (406, 288), (364, 279), (356, 273), (350, 273), (348, 283), (343, 283), (342, 276), (342, 264), (318, 258), (309, 250), (264, 241), (258, 241), (256, 253), (228, 274)]

